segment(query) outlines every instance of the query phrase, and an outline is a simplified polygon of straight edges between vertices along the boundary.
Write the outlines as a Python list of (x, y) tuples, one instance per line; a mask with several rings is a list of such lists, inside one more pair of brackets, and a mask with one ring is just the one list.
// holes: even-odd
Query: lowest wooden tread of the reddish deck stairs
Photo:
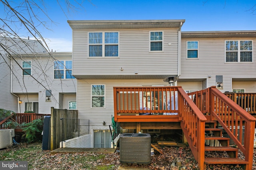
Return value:
[(205, 164), (249, 164), (248, 161), (239, 158), (204, 158)]

